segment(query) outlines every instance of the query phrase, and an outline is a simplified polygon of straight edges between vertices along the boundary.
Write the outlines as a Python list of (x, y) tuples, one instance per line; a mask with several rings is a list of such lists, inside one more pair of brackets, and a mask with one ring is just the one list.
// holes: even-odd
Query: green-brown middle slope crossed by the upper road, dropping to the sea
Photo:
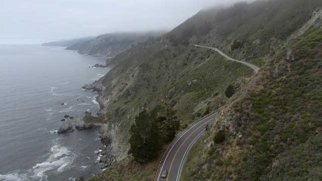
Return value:
[[(189, 44), (217, 47), (235, 59), (267, 67), (274, 62), (272, 60), (281, 48), (288, 47), (284, 45), (287, 37), (302, 27), (320, 4), (317, 0), (310, 3), (303, 0), (272, 0), (239, 3), (228, 9), (204, 10), (162, 38), (151, 39), (144, 45), (137, 45), (115, 57), (119, 60), (117, 66), (92, 86), (101, 90), (100, 102), (105, 106), (103, 111), (106, 122), (103, 129), (112, 139), (113, 152), (119, 160), (126, 159), (93, 180), (152, 178), (153, 170), (156, 169), (154, 163), (154, 166), (143, 165), (142, 168), (142, 165), (131, 161), (131, 157), (127, 158), (129, 130), (134, 117), (141, 111), (151, 110), (159, 105), (173, 109), (177, 111), (176, 116), (183, 129), (185, 124), (225, 105), (227, 96), (230, 97), (240, 87), (263, 88), (260, 80), (266, 71), (250, 78), (249, 74), (253, 70), (249, 67), (227, 61), (212, 50)], [(249, 79), (251, 83), (244, 85), (248, 84)], [(243, 93), (239, 92), (240, 99), (246, 95), (245, 91)], [(237, 98), (234, 96), (230, 101), (240, 100)], [(223, 115), (234, 116), (233, 113)], [(244, 126), (251, 128), (251, 125)], [(217, 131), (212, 129), (213, 133)], [(227, 133), (227, 137), (228, 135)], [(213, 137), (214, 135), (211, 140)], [(208, 152), (209, 148), (204, 145), (199, 146)], [(214, 173), (215, 168), (206, 167), (203, 162), (211, 159), (207, 159), (207, 155), (201, 157), (201, 162), (195, 161), (198, 165), (193, 165), (193, 175), (189, 175), (189, 178), (209, 178), (209, 175), (204, 175), (204, 169), (209, 169), (210, 176)], [(224, 164), (222, 160), (215, 162)], [(134, 168), (136, 166), (139, 168)], [(198, 171), (201, 173), (197, 174)], [(238, 171), (237, 168), (235, 171)]]

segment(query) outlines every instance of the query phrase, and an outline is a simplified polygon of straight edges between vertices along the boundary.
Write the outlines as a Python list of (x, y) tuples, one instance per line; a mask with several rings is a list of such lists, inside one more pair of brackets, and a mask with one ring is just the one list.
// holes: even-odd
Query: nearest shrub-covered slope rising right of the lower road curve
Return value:
[[(290, 34), (288, 28), (276, 28), (284, 41), (274, 54), (263, 56), (267, 64), (260, 74), (233, 96), (193, 146), (183, 180), (322, 179), (322, 2), (294, 1), (282, 8), (286, 11), (275, 19), (297, 12), (288, 23), (299, 30)], [(261, 33), (272, 33), (268, 27)]]

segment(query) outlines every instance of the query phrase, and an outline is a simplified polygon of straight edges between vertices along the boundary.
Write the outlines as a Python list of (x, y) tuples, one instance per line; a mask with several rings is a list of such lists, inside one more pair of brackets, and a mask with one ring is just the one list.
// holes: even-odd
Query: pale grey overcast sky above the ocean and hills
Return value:
[(240, 0), (1, 0), (0, 43), (173, 29), (199, 10)]

